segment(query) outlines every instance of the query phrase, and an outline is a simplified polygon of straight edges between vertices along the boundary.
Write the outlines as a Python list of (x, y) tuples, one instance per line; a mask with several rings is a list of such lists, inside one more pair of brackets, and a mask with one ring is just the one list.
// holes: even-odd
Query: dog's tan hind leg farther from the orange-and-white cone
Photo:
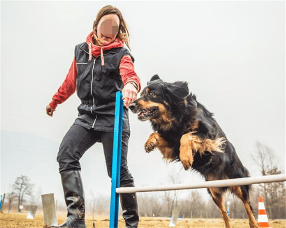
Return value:
[(231, 228), (227, 211), (225, 209), (225, 206), (223, 205), (223, 191), (219, 188), (209, 188), (209, 191), (214, 199), (215, 204), (220, 210), (220, 214), (224, 221), (225, 228)]

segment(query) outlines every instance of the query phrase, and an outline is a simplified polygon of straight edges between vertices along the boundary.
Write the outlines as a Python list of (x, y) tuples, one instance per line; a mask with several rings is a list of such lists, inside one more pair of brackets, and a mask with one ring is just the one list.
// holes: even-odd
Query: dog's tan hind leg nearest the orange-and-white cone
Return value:
[(258, 228), (258, 224), (254, 218), (252, 207), (249, 201), (249, 187), (248, 186), (233, 186), (233, 187), (230, 187), (230, 190), (239, 199), (242, 200), (248, 219), (249, 219), (250, 228)]

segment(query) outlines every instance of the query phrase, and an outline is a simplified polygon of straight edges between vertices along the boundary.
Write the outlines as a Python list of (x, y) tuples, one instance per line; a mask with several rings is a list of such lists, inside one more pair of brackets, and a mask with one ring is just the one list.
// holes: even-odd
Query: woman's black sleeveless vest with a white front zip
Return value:
[[(75, 60), (77, 66), (76, 92), (81, 100), (78, 106), (78, 117), (75, 124), (87, 129), (113, 132), (115, 97), (117, 91), (122, 91), (123, 83), (119, 74), (119, 63), (129, 51), (113, 48), (103, 52), (105, 65), (101, 65), (101, 56), (89, 59), (86, 42), (75, 46)], [(129, 133), (128, 110), (123, 108), (123, 132)]]

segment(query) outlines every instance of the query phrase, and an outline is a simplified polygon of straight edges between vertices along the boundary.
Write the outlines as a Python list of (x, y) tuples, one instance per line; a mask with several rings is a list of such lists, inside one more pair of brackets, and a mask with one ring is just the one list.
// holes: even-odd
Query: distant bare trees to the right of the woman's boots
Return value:
[[(252, 160), (253, 163), (259, 167), (259, 171), (262, 175), (282, 173), (279, 169), (279, 160), (275, 156), (273, 149), (261, 142), (255, 143)], [(169, 181), (171, 184), (179, 183), (178, 179), (176, 179), (176, 173), (170, 175)], [(214, 204), (213, 199), (211, 199), (211, 197), (204, 199), (196, 190), (190, 191), (185, 199), (179, 199), (178, 191), (164, 192), (164, 195), (159, 195), (158, 193), (140, 194), (140, 215), (167, 217), (172, 215), (172, 210), (177, 207), (180, 209), (180, 214), (187, 218), (220, 218), (219, 210)], [(285, 182), (265, 183), (252, 186), (250, 202), (256, 216), (259, 196), (262, 196), (264, 199), (269, 219), (286, 219)], [(224, 201), (226, 208), (228, 208), (226, 202), (229, 201), (230, 203), (229, 217), (231, 219), (247, 218), (244, 205), (240, 199), (228, 193)]]

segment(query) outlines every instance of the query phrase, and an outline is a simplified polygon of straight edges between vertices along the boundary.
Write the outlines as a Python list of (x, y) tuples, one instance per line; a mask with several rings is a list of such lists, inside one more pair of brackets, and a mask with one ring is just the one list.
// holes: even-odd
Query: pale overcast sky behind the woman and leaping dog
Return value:
[[(252, 176), (255, 141), (273, 148), (285, 170), (285, 1), (1, 1), (1, 188), (27, 175), (42, 193), (64, 200), (56, 155), (77, 117), (76, 94), (45, 107), (64, 81), (76, 44), (92, 30), (97, 12), (118, 7), (143, 87), (154, 74), (186, 81), (233, 143)], [(203, 181), (159, 151), (146, 154), (152, 132), (129, 112), (129, 168), (137, 186)], [(81, 159), (87, 199), (109, 194), (101, 144)]]

